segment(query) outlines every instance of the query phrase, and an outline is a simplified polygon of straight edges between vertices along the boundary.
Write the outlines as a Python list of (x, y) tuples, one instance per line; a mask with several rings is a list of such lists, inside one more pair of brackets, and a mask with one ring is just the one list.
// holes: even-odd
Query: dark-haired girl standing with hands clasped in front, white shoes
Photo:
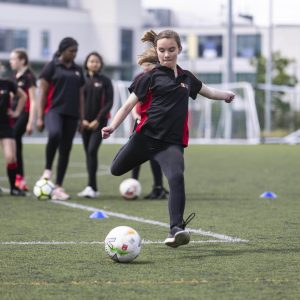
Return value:
[(113, 85), (111, 80), (101, 73), (103, 59), (97, 52), (87, 55), (84, 68), (84, 119), (82, 140), (86, 155), (88, 183), (79, 197), (95, 198), (99, 195), (96, 173), (98, 169), (98, 149), (102, 142), (100, 131), (107, 125), (110, 109), (113, 105)]

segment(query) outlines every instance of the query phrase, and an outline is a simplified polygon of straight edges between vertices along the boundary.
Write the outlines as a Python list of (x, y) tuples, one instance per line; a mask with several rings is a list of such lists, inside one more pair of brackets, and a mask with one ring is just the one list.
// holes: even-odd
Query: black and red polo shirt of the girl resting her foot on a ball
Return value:
[(55, 58), (45, 65), (40, 78), (50, 84), (45, 111), (51, 109), (59, 114), (78, 118), (79, 91), (84, 85), (81, 67), (74, 62), (70, 67), (66, 67)]

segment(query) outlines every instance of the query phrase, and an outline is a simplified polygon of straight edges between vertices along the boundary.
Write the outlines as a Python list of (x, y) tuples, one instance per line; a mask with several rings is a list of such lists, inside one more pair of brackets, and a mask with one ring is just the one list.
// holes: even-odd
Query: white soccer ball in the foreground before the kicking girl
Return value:
[(112, 229), (105, 238), (105, 251), (116, 262), (131, 262), (141, 252), (142, 240), (139, 234), (129, 226)]

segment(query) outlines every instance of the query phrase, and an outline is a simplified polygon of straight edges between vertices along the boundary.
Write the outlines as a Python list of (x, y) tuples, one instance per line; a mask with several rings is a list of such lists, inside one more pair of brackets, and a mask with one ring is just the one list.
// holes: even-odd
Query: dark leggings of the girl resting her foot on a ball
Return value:
[(69, 163), (73, 138), (78, 126), (78, 119), (49, 111), (45, 119), (48, 130), (46, 146), (46, 169), (51, 170), (58, 149), (56, 184), (62, 185)]

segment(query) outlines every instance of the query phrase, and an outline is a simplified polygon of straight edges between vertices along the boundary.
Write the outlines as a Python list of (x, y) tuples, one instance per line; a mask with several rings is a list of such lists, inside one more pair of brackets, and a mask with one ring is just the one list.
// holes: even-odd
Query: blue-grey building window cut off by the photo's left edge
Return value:
[(14, 48), (27, 49), (27, 30), (0, 29), (0, 52), (10, 52)]

